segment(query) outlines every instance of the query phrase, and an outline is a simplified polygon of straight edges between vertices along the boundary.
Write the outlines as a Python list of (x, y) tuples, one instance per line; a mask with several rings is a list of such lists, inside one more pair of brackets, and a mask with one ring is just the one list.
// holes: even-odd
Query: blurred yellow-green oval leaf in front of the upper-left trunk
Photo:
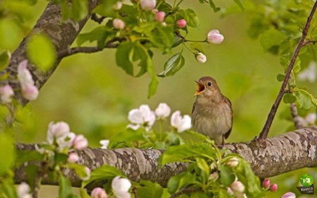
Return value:
[(33, 35), (27, 42), (27, 56), (38, 68), (49, 70), (56, 61), (56, 51), (49, 37)]

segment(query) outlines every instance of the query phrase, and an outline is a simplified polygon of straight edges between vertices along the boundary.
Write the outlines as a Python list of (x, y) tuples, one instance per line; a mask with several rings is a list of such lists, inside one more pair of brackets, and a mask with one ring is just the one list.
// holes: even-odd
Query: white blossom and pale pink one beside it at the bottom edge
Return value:
[[(126, 178), (120, 178), (120, 176), (116, 176), (113, 178), (111, 182), (111, 189), (113, 194), (117, 198), (130, 198), (131, 194), (129, 192), (131, 187), (130, 180)], [(102, 189), (101, 187), (96, 187), (94, 190), (92, 190), (91, 194), (92, 198), (106, 198), (108, 197), (106, 191)]]

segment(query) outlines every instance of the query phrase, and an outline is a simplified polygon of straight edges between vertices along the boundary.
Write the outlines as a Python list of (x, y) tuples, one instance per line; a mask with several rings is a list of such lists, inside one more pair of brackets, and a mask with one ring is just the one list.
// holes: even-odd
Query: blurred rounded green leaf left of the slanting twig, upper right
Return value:
[(278, 30), (270, 29), (263, 32), (259, 39), (263, 49), (268, 51), (273, 47), (279, 46), (285, 39), (287, 39), (287, 36)]

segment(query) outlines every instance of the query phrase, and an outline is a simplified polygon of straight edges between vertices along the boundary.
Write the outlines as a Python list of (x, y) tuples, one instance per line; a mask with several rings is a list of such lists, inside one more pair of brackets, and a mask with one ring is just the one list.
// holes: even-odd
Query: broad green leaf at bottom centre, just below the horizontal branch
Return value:
[(192, 184), (195, 180), (196, 179), (194, 175), (192, 175), (192, 173), (189, 172), (184, 172), (175, 175), (168, 180), (168, 192), (170, 194), (173, 194), (174, 192), (180, 190), (180, 188)]

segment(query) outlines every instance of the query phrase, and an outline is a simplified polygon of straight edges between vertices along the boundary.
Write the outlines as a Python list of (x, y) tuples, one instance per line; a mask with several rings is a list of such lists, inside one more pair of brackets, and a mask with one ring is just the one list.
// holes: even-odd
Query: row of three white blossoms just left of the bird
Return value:
[[(129, 112), (128, 119), (131, 124), (128, 128), (133, 130), (144, 128), (149, 132), (155, 120), (165, 120), (168, 116), (170, 116), (170, 107), (166, 103), (159, 104), (155, 111), (151, 111), (147, 104), (142, 104), (139, 109), (132, 109)], [(188, 115), (181, 116), (180, 111), (175, 111), (170, 117), (170, 125), (178, 132), (183, 132), (192, 128), (192, 120)]]

